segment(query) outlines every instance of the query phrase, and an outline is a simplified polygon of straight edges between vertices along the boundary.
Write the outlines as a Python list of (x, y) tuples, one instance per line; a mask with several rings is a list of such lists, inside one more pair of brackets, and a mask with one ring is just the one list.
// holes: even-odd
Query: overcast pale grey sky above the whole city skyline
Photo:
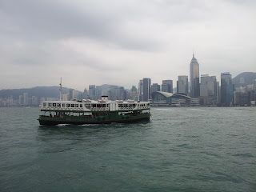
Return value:
[(0, 90), (256, 72), (255, 0), (0, 0)]

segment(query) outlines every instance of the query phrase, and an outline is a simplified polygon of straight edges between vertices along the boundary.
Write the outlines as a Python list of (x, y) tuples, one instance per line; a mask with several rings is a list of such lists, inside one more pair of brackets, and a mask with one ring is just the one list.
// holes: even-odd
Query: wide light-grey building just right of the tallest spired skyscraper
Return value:
[(201, 75), (200, 98), (202, 105), (218, 104), (218, 84), (216, 76)]

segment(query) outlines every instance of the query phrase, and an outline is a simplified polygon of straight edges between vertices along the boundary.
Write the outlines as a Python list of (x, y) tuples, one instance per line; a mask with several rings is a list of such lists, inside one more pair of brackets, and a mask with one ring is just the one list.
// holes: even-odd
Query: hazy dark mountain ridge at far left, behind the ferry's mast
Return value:
[[(62, 92), (68, 93), (69, 88), (62, 87)], [(27, 89), (0, 90), (0, 98), (9, 98), (12, 95), (14, 99), (18, 99), (18, 96), (23, 93), (28, 93), (29, 97), (59, 98), (59, 86), (36, 86)]]

